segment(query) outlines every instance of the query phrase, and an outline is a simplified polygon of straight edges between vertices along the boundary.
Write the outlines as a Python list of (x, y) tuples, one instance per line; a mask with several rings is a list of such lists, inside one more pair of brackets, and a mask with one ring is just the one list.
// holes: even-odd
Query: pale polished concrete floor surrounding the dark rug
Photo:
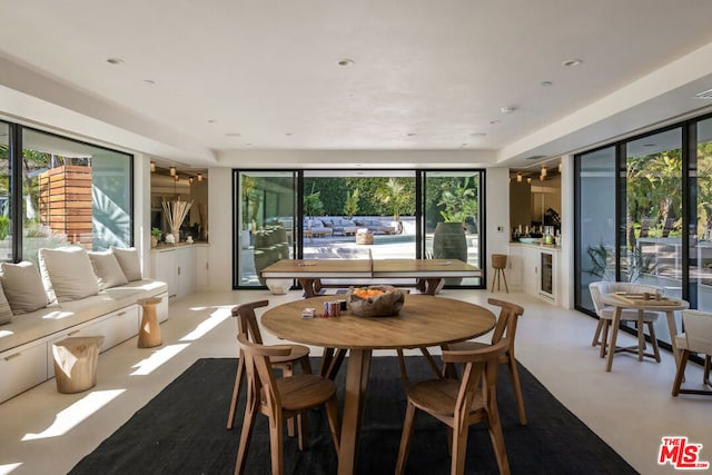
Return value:
[[(442, 294), (485, 306), (492, 295)], [(712, 397), (671, 397), (675, 366), (670, 353), (663, 352), (660, 364), (616, 355), (613, 370), (606, 373), (591, 347), (594, 319), (524, 294), (494, 295), (526, 310), (520, 319), (517, 359), (639, 472), (675, 472), (670, 464), (657, 464), (664, 436), (702, 444), (700, 458), (712, 462)], [(58, 394), (52, 379), (0, 404), (0, 474), (67, 473), (197, 358), (236, 356), (236, 324), (229, 316), (234, 305), (265, 298), (275, 305), (300, 297), (300, 291), (273, 296), (250, 290), (171, 300), (170, 319), (161, 325), (164, 345), (137, 348), (135, 337), (101, 354), (93, 389)], [(635, 343), (629, 335), (620, 338)], [(689, 365), (688, 384), (701, 386), (701, 368)]]

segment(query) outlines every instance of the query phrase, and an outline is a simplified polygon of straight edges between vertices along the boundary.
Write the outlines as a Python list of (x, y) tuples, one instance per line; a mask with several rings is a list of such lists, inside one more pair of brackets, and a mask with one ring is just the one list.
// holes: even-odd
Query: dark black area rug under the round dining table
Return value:
[[(412, 382), (432, 376), (422, 357), (406, 359)], [(312, 363), (318, 368), (318, 359)], [(236, 427), (226, 431), (236, 368), (234, 358), (197, 360), (70, 473), (231, 474), (245, 408), (243, 392)], [(500, 414), (513, 474), (636, 473), (521, 365), (520, 372), (526, 426), (518, 424), (510, 374), (504, 367), (500, 372)], [(337, 378), (340, 392), (345, 373), (344, 365)], [(397, 358), (374, 358), (359, 443), (359, 474), (394, 472), (405, 406)], [(323, 409), (309, 412), (308, 427), (305, 452), (298, 451), (296, 438), (285, 437), (285, 473), (335, 474), (337, 458)], [(407, 473), (447, 474), (449, 465), (445, 426), (418, 413)], [(267, 419), (261, 415), (257, 417), (246, 473), (271, 473)], [(497, 473), (490, 436), (482, 424), (469, 431), (466, 473)]]

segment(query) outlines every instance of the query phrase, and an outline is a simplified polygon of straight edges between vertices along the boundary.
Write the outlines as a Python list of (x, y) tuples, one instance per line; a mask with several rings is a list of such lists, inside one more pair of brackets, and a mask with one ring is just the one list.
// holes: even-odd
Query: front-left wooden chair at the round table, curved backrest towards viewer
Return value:
[(336, 400), (336, 384), (323, 376), (300, 374), (276, 378), (270, 360), (291, 353), (289, 345), (264, 346), (251, 343), (245, 334), (237, 336), (240, 354), (245, 358), (247, 376), (247, 404), (243, 419), (243, 432), (237, 452), (235, 474), (245, 471), (247, 449), (253, 435), (257, 413), (269, 418), (269, 446), (271, 473), (284, 473), (283, 434), (284, 423), (296, 417), (299, 449), (306, 439), (307, 410), (325, 406), (334, 446), (338, 453), (340, 419)]

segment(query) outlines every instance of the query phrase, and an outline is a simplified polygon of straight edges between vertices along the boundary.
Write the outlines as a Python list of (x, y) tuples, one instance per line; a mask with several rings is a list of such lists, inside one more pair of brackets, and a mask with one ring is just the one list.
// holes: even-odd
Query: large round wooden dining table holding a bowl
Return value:
[(374, 349), (442, 346), (486, 334), (496, 318), (488, 309), (467, 301), (429, 295), (406, 295), (397, 316), (358, 317), (348, 310), (338, 317), (303, 318), (305, 307), (322, 314), (323, 304), (338, 296), (296, 300), (268, 309), (264, 328), (290, 342), (348, 350), (338, 473), (353, 474)]

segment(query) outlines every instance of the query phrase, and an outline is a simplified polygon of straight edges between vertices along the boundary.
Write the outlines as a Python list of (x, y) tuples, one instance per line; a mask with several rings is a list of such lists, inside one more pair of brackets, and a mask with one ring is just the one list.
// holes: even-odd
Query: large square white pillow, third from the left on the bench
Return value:
[(85, 248), (79, 246), (40, 249), (40, 269), (48, 291), (58, 301), (79, 300), (99, 294), (99, 281)]

